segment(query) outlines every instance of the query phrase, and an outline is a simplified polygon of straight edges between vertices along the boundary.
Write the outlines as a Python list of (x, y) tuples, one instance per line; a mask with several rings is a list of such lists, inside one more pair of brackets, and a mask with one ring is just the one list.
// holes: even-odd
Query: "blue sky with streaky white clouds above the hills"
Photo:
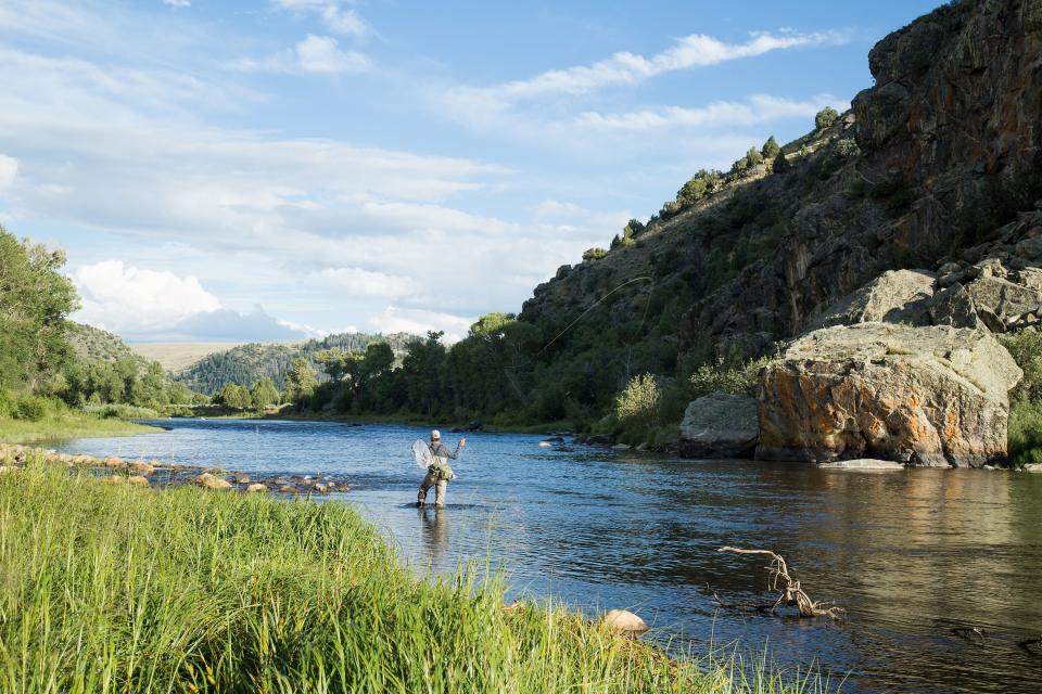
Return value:
[(0, 2), (0, 221), (132, 340), (518, 311), (938, 3)]

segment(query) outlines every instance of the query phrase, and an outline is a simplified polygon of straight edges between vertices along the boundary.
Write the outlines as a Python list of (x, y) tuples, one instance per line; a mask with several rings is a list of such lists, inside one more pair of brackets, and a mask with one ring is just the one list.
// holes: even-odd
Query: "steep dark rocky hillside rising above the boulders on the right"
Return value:
[[(631, 244), (561, 268), (521, 319), (552, 335), (648, 278), (597, 309), (634, 324), (622, 343), (639, 357), (607, 374), (618, 386), (765, 354), (882, 271), (957, 259), (1042, 198), (1040, 62), (1038, 0), (945, 4), (873, 48), (875, 85), (784, 145), (787, 166), (750, 167), (694, 204), (678, 195)], [(598, 338), (570, 335), (560, 357)]]

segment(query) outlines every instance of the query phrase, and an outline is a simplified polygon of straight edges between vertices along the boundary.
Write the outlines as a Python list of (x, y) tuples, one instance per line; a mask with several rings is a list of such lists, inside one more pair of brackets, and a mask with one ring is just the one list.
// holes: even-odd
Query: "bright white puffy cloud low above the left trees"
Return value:
[(80, 267), (73, 282), (82, 298), (73, 319), (115, 333), (163, 329), (220, 308), (194, 277), (126, 267), (122, 260)]

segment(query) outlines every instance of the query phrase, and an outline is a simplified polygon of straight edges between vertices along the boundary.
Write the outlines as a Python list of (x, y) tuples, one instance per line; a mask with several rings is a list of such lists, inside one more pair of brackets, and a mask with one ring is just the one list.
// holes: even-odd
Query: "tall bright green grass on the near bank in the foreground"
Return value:
[(785, 691), (505, 609), (496, 581), (419, 580), (342, 504), (40, 461), (0, 474), (0, 586), (4, 692)]

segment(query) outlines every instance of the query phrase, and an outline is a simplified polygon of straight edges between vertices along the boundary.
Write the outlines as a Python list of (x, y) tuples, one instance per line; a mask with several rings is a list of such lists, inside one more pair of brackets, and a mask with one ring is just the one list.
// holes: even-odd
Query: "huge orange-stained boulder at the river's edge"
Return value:
[(987, 331), (889, 323), (815, 331), (761, 375), (757, 457), (1001, 461), (1007, 394), (1021, 375)]

